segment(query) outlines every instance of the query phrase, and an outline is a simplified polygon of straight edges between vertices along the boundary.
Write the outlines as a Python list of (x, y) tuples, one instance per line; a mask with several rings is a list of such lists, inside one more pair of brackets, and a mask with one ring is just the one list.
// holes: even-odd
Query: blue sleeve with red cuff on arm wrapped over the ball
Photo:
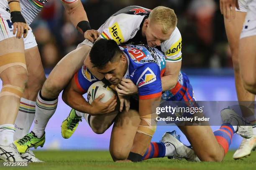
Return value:
[(74, 75), (74, 80), (77, 88), (83, 93), (86, 93), (94, 82), (99, 81), (85, 66), (82, 66)]

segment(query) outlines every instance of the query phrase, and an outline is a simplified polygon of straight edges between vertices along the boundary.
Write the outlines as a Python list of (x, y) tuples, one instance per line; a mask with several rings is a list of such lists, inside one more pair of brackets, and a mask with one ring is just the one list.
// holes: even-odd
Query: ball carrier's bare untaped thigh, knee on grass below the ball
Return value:
[(110, 138), (110, 154), (114, 161), (125, 160), (128, 157), (140, 122), (136, 110), (118, 114)]

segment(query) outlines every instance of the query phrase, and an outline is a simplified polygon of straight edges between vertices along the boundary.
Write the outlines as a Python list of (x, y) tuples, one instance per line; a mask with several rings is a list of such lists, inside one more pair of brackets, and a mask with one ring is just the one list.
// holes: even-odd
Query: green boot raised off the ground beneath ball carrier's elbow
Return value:
[(61, 124), (61, 135), (63, 138), (70, 138), (77, 129), (78, 123), (82, 122), (82, 118), (76, 115), (76, 111), (72, 109), (69, 116)]

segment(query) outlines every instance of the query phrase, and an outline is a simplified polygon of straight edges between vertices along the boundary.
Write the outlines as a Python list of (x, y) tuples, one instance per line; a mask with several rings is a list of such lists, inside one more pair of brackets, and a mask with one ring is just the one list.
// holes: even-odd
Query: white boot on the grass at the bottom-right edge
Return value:
[(256, 149), (256, 135), (254, 135), (250, 139), (243, 138), (239, 148), (234, 153), (233, 158), (235, 160), (244, 158), (251, 154), (251, 150), (255, 150), (255, 149)]

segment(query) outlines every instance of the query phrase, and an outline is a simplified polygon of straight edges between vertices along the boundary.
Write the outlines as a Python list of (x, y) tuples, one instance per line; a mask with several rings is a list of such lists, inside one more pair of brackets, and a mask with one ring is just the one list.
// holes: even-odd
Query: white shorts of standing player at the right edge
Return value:
[(249, 0), (247, 8), (248, 12), (243, 23), (240, 39), (256, 35), (256, 0)]

